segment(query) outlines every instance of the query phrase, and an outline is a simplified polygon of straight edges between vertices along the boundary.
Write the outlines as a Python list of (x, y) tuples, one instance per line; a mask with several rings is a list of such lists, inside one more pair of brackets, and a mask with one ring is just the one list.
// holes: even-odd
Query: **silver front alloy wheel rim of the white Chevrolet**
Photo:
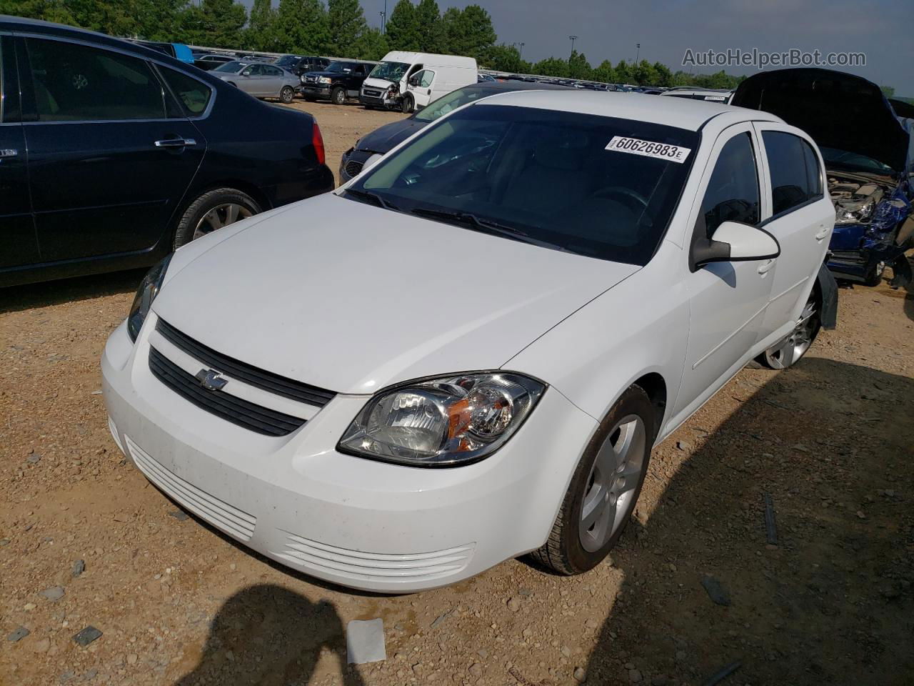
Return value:
[(578, 525), (587, 552), (600, 550), (631, 514), (644, 470), (647, 432), (641, 417), (629, 414), (600, 446), (590, 467)]

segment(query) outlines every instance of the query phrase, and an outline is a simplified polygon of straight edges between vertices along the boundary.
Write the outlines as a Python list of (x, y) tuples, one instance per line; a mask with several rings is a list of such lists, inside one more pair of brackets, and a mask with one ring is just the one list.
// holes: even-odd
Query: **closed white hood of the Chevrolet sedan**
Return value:
[(498, 369), (639, 269), (332, 193), (180, 264), (158, 316), (232, 358), (345, 393)]

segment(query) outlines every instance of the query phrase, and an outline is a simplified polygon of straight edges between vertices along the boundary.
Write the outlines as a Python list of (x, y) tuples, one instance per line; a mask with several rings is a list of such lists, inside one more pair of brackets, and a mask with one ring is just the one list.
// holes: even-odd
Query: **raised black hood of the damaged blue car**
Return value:
[(902, 171), (908, 134), (879, 87), (843, 71), (762, 71), (739, 84), (730, 104), (777, 114), (818, 145), (866, 155)]

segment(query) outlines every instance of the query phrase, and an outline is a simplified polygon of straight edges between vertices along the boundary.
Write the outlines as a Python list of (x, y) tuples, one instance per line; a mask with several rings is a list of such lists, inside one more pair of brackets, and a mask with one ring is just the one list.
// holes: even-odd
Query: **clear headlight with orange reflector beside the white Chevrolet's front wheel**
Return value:
[(545, 388), (501, 372), (413, 381), (368, 401), (337, 447), (401, 465), (469, 464), (504, 445)]

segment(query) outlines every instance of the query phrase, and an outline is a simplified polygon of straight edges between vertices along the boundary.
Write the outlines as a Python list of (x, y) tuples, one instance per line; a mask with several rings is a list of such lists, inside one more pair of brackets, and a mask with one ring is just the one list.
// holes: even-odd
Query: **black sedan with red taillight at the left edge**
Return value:
[(0, 285), (148, 266), (333, 188), (309, 114), (133, 43), (0, 16)]

